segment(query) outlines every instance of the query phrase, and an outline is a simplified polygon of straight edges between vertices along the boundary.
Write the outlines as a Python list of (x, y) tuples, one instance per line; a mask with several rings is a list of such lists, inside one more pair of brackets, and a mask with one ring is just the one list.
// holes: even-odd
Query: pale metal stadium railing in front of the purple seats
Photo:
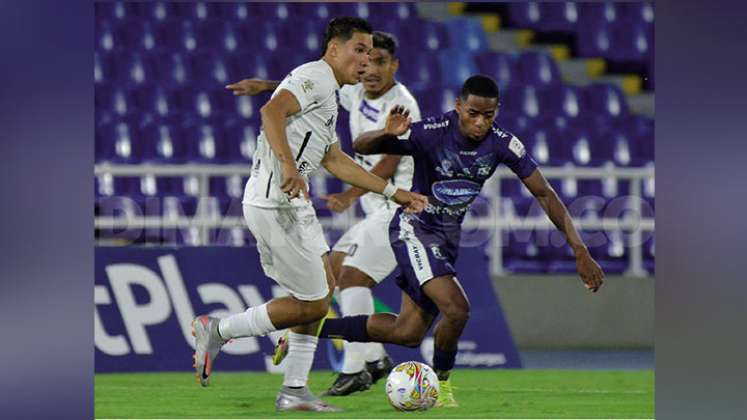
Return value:
[[(216, 176), (249, 176), (250, 165), (209, 165), (209, 164), (185, 164), (185, 165), (120, 165), (102, 163), (94, 166), (96, 176), (110, 174), (117, 176), (195, 176), (199, 180), (199, 197), (208, 197), (209, 180)], [(577, 218), (574, 223), (581, 230), (621, 230), (629, 232), (628, 249), (629, 265), (625, 273), (629, 276), (644, 277), (648, 272), (643, 268), (643, 233), (653, 232), (655, 228), (654, 217), (643, 217), (646, 205), (642, 200), (642, 182), (654, 179), (654, 167), (542, 167), (542, 173), (546, 178), (564, 179), (575, 178), (576, 180), (592, 179), (602, 180), (614, 178), (615, 180), (629, 180), (630, 203), (620, 211), (619, 217), (601, 218)], [(491, 274), (505, 274), (503, 264), (503, 234), (512, 230), (534, 230), (553, 229), (552, 222), (544, 215), (520, 217), (513, 214), (499, 214), (501, 199), (500, 180), (508, 178), (515, 179), (515, 175), (508, 168), (498, 168), (494, 175), (488, 180), (483, 188), (483, 195), (490, 202), (490, 214), (475, 216), (468, 214), (465, 218), (463, 228), (471, 230), (482, 230), (491, 232), (487, 251), (490, 256)], [(198, 209), (201, 207), (198, 206)], [(636, 216), (632, 216), (633, 215)], [(360, 218), (356, 217), (354, 211), (347, 211), (332, 216), (320, 216), (319, 221), (325, 228), (344, 230)], [(200, 232), (200, 243), (208, 244), (208, 232), (210, 229), (222, 228), (245, 228), (243, 217), (207, 215), (198, 210), (194, 217), (107, 217), (98, 216), (94, 221), (96, 229), (118, 229), (118, 228), (185, 228), (196, 227)]]

